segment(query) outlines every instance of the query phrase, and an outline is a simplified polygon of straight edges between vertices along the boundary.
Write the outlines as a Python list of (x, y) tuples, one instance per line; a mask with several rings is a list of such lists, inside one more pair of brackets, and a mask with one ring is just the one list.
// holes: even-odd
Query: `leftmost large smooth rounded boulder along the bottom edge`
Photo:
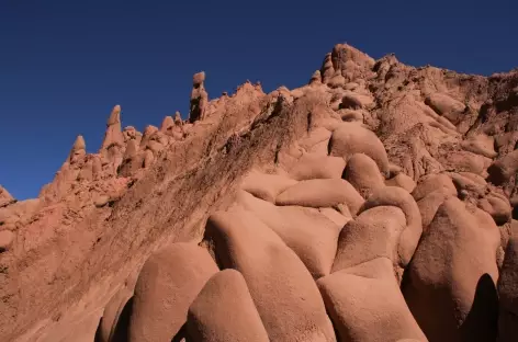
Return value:
[(206, 250), (193, 243), (174, 243), (153, 254), (135, 286), (128, 341), (171, 341), (217, 271)]

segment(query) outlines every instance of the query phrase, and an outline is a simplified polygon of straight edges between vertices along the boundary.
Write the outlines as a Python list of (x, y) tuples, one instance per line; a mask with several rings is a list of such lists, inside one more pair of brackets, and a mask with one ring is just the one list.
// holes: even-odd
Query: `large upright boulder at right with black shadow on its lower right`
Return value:
[(430, 342), (495, 341), (499, 231), (491, 216), (446, 200), (405, 273), (403, 293)]

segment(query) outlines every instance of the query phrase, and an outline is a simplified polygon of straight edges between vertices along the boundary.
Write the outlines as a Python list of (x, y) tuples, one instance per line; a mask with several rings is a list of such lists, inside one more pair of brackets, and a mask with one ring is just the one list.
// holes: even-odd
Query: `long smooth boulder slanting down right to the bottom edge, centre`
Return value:
[(312, 275), (254, 214), (237, 206), (211, 215), (205, 241), (224, 269), (243, 274), (271, 341), (336, 341)]

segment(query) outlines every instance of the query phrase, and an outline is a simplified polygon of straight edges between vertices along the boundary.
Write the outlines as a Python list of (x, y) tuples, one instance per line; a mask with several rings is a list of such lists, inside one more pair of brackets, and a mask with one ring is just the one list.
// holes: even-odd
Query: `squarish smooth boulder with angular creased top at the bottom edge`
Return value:
[(340, 341), (427, 341), (405, 304), (388, 259), (338, 271), (317, 284)]

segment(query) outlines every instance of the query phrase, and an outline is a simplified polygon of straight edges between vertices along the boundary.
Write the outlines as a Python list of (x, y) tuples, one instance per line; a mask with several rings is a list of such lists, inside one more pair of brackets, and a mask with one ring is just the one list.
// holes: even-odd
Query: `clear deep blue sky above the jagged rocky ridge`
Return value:
[(295, 88), (347, 42), (374, 58), (507, 71), (517, 2), (0, 0), (0, 184), (36, 196), (78, 134), (99, 149), (115, 104), (140, 130), (185, 115), (199, 70), (211, 98), (246, 79)]

